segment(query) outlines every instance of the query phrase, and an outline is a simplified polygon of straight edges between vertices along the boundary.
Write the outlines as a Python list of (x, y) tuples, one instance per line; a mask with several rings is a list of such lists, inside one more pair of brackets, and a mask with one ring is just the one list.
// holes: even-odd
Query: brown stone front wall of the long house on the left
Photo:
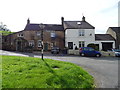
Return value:
[[(7, 50), (16, 50), (16, 42), (15, 39), (18, 38), (19, 34), (23, 34), (23, 37), (25, 40), (28, 42), (30, 40), (34, 41), (34, 50), (41, 50), (40, 47), (38, 47), (38, 40), (41, 40), (41, 35), (37, 36), (37, 32), (41, 31), (36, 31), (36, 30), (30, 30), (30, 31), (20, 31), (14, 34), (11, 34), (6, 37), (6, 49)], [(56, 37), (55, 39), (51, 39), (51, 32), (55, 32)], [(55, 43), (56, 46), (60, 47), (60, 49), (64, 48), (64, 31), (51, 31), (47, 30), (43, 32), (43, 42), (44, 44), (47, 43), (48, 45), (48, 50), (51, 50), (52, 42)]]

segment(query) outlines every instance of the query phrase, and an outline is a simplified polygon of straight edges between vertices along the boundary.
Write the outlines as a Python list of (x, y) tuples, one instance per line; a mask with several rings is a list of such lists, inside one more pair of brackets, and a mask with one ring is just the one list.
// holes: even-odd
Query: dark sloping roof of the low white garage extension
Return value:
[(110, 34), (95, 34), (95, 40), (115, 40)]

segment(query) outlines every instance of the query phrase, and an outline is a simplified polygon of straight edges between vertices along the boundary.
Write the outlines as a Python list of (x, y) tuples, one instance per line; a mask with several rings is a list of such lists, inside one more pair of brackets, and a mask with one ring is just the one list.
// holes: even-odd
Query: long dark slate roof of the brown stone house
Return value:
[[(27, 24), (24, 30), (42, 30), (39, 26), (40, 24)], [(58, 24), (43, 24), (44, 30), (64, 30), (62, 25)]]

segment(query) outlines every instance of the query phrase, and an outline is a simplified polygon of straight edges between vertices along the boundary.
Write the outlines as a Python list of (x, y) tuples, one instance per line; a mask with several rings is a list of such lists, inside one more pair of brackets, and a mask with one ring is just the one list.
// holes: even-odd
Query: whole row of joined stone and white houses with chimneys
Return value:
[[(65, 21), (61, 18), (61, 24), (43, 24), (43, 45), (45, 51), (50, 51), (57, 46), (61, 50), (75, 47), (87, 47), (95, 44), (98, 50), (120, 48), (120, 28), (109, 27), (106, 34), (95, 34), (95, 27), (89, 24), (85, 17), (81, 21)], [(25, 51), (32, 47), (34, 51), (41, 50), (40, 24), (27, 20), (24, 30), (7, 35), (3, 39), (4, 50)]]

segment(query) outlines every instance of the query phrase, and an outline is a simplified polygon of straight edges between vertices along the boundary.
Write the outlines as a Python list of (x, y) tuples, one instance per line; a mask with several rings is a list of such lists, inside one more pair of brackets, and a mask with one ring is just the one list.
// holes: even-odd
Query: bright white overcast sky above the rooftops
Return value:
[(61, 17), (86, 21), (96, 33), (105, 33), (108, 27), (118, 26), (119, 0), (0, 0), (0, 22), (13, 32), (31, 23), (61, 24)]

